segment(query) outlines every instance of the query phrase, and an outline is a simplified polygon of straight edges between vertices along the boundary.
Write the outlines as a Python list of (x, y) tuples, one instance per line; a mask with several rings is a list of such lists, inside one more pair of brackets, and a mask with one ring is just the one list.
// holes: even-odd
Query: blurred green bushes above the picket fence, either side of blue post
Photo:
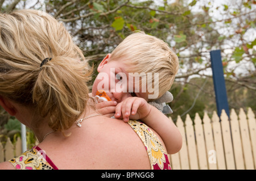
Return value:
[[(255, 77), (251, 78), (251, 81), (255, 81)], [(239, 112), (240, 108), (243, 108), (247, 111), (247, 108), (250, 107), (256, 114), (256, 92), (254, 90), (246, 89), (236, 82), (226, 82), (226, 90), (229, 92), (229, 110), (234, 109)], [(185, 85), (174, 83), (170, 91), (176, 99), (170, 103), (174, 113), (168, 116), (171, 116), (174, 121), (178, 115), (185, 120), (187, 113), (193, 120), (196, 112), (199, 113), (201, 119), (203, 119), (204, 111), (210, 117), (213, 111), (217, 112), (212, 78), (192, 78)], [(193, 104), (194, 102), (195, 104)]]

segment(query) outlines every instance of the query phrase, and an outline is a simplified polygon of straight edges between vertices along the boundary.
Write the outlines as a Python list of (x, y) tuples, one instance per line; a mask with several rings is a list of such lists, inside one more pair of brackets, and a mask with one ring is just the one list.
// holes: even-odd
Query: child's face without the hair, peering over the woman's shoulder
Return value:
[(131, 96), (138, 96), (148, 101), (147, 92), (141, 92), (139, 82), (135, 82), (134, 78), (129, 76), (127, 67), (128, 65), (123, 61), (109, 61), (106, 56), (98, 66), (99, 74), (93, 83), (92, 95), (95, 96), (96, 92), (102, 89), (111, 100), (117, 103)]

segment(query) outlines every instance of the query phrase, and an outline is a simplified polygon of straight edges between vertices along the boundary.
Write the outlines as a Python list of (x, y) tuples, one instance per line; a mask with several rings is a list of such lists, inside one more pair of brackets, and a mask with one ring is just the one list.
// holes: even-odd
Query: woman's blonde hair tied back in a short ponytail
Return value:
[(0, 14), (0, 33), (0, 95), (30, 107), (35, 120), (49, 116), (53, 130), (70, 128), (86, 107), (91, 71), (63, 24), (17, 10)]

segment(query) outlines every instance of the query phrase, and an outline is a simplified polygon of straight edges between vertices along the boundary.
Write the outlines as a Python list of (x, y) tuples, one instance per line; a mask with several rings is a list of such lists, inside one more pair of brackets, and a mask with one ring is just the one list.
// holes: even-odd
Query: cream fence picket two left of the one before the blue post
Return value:
[[(216, 151), (216, 149), (214, 147), (212, 124), (210, 123), (210, 118), (206, 112), (204, 112), (203, 123), (204, 123), (205, 145), (206, 145), (207, 154), (209, 156), (210, 151), (211, 150)], [(208, 167), (210, 170), (216, 170), (217, 169), (216, 155), (213, 155), (212, 159), (208, 157)]]

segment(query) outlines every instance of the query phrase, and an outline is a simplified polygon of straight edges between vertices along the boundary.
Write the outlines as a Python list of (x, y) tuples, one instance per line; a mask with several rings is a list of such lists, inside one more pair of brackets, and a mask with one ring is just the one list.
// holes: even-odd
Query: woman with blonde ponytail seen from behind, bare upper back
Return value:
[(158, 134), (94, 110), (91, 70), (61, 23), (18, 10), (0, 15), (0, 33), (0, 105), (40, 142), (0, 169), (170, 169)]

